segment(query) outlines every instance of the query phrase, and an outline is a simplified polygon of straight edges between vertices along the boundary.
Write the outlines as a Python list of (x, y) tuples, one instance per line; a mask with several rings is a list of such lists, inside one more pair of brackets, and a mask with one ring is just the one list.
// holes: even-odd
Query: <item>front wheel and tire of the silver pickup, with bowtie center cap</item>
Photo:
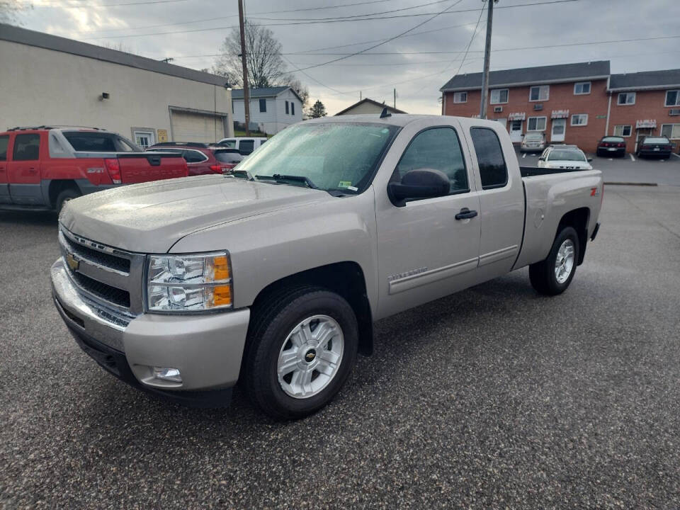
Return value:
[(299, 419), (339, 392), (356, 361), (349, 303), (318, 287), (283, 290), (259, 305), (244, 354), (251, 401), (274, 419)]

